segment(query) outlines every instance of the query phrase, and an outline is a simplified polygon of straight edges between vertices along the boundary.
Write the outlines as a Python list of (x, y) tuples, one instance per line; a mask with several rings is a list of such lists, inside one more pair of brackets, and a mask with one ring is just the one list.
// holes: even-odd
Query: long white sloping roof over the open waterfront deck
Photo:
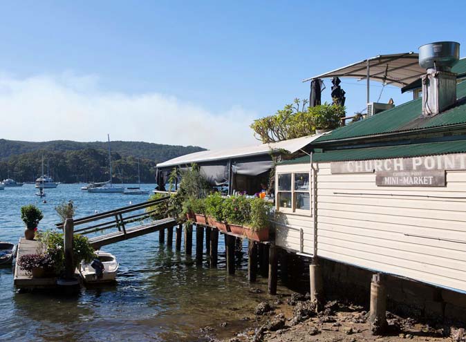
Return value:
[[(327, 134), (327, 133), (324, 133)], [(173, 167), (175, 165), (185, 165), (199, 162), (212, 162), (214, 160), (225, 160), (232, 158), (244, 158), (254, 155), (264, 155), (270, 153), (270, 151), (288, 151), (289, 153), (295, 153), (300, 149), (316, 140), (321, 134), (310, 135), (307, 137), (298, 137), (296, 139), (283, 140), (281, 142), (272, 142), (270, 144), (260, 144), (254, 146), (245, 146), (237, 149), (225, 149), (225, 150), (212, 150), (212, 151), (201, 151), (196, 153), (190, 153), (187, 155), (181, 155), (180, 157), (167, 160), (157, 164), (157, 167)]]

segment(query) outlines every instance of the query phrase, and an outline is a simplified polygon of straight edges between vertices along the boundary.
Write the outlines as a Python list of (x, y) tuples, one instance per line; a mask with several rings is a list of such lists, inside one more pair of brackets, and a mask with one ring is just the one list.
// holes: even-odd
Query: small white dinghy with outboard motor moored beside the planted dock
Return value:
[(118, 262), (113, 254), (106, 251), (95, 251), (97, 260), (91, 263), (80, 263), (79, 273), (85, 283), (107, 283), (115, 281), (118, 271)]

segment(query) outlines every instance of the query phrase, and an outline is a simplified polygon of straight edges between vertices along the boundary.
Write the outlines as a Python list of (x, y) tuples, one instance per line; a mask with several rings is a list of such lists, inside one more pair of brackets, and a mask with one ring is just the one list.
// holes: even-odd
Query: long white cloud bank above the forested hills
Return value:
[(10, 140), (136, 140), (208, 149), (256, 144), (257, 113), (223, 112), (160, 93), (104, 91), (94, 75), (0, 74), (0, 137)]

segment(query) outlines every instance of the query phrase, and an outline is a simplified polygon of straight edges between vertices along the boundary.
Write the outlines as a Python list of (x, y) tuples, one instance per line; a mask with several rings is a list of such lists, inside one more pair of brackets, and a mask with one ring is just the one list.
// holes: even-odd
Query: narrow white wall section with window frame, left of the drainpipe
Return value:
[[(308, 175), (307, 191), (295, 190), (295, 175), (301, 177), (303, 173)], [(290, 191), (279, 191), (280, 175), (290, 175)], [(313, 193), (311, 184), (313, 182), (310, 172), (310, 163), (279, 165), (275, 172), (275, 198), (277, 198), (277, 215), (275, 216), (275, 243), (290, 251), (304, 254), (313, 254), (314, 231), (313, 231)], [(280, 207), (280, 193), (290, 192), (292, 194), (292, 205)], [(296, 196), (306, 192), (309, 198), (309, 209), (298, 209)], [(299, 206), (298, 206), (299, 207)]]

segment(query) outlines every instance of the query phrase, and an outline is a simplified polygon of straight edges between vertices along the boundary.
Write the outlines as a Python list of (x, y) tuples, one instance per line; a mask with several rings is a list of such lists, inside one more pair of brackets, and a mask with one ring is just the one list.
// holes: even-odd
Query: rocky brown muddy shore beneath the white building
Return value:
[[(342, 301), (328, 301), (316, 313), (308, 296), (269, 296), (254, 312), (242, 319), (249, 326), (225, 338), (220, 327), (201, 329), (203, 341), (267, 342), (267, 341), (454, 341), (466, 342), (464, 323), (418, 321), (387, 312), (388, 327), (381, 335), (373, 335), (368, 323), (368, 308)], [(225, 326), (229, 323), (225, 322)], [(221, 336), (223, 335), (223, 336)], [(219, 337), (221, 336), (221, 338)]]

